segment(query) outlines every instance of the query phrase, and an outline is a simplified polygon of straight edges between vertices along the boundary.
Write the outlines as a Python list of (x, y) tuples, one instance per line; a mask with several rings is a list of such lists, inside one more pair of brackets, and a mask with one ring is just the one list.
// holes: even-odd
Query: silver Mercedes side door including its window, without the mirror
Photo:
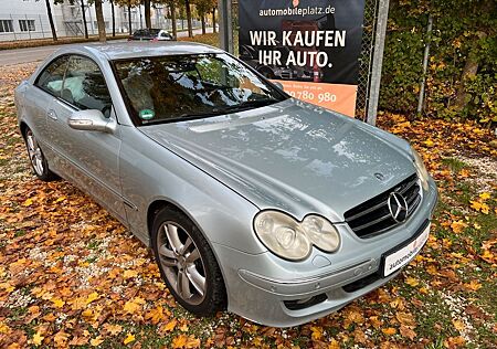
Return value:
[(99, 66), (89, 57), (71, 55), (60, 97), (53, 98), (46, 118), (50, 142), (57, 155), (56, 167), (124, 222), (119, 126), (114, 133), (71, 128), (68, 118), (85, 109), (98, 109), (105, 118), (117, 121)]

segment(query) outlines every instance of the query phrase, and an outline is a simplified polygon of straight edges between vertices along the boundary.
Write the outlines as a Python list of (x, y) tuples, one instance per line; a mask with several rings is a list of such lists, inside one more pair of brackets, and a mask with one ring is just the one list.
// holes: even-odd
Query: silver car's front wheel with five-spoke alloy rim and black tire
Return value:
[(151, 244), (160, 274), (176, 300), (197, 316), (226, 308), (226, 290), (214, 254), (199, 229), (170, 208), (155, 216)]

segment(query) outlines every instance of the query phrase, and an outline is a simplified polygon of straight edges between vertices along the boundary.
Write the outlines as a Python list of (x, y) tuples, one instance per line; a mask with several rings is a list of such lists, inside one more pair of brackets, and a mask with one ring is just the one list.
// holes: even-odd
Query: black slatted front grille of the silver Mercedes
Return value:
[(421, 191), (417, 176), (413, 174), (392, 189), (347, 211), (345, 220), (359, 237), (367, 239), (379, 235), (399, 224), (390, 214), (388, 200), (390, 193), (398, 192), (408, 203), (408, 218), (417, 209), (421, 202)]

